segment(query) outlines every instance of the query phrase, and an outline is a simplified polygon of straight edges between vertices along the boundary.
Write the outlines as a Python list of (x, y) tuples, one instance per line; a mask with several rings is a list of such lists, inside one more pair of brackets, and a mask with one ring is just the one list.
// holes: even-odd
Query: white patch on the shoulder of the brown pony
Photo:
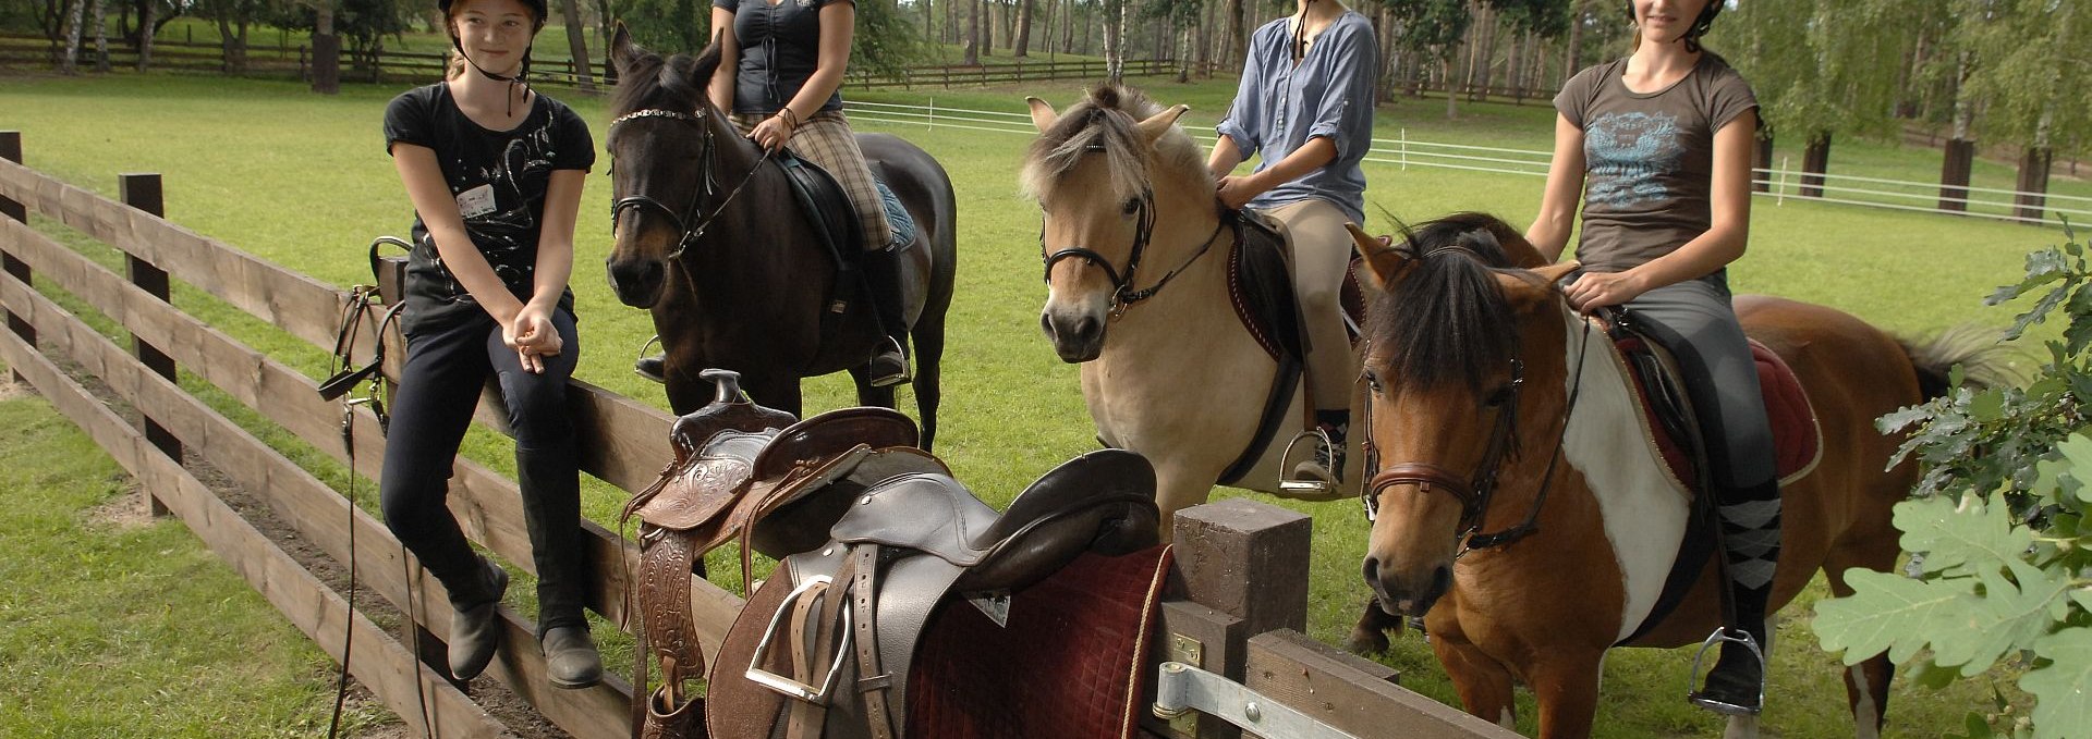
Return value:
[[(1569, 436), (1563, 440), (1563, 461), (1584, 474), (1598, 509), (1605, 516), (1605, 539), (1619, 562), (1621, 591), (1619, 635), (1625, 639), (1657, 607), (1663, 580), (1678, 559), (1678, 541), (1686, 526), (1686, 491), (1648, 445), (1646, 418), (1634, 399), (1630, 376), (1619, 353), (1607, 347), (1602, 330), (1588, 332), (1584, 317), (1563, 309), (1567, 332), (1567, 392), (1577, 392), (1569, 413)], [(1577, 388), (1579, 351), (1584, 382)], [(1636, 430), (1636, 432), (1630, 432)]]

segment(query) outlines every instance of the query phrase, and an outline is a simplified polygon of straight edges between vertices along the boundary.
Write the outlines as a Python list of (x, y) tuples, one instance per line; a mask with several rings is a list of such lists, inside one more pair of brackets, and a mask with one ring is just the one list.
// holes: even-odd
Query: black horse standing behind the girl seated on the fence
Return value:
[[(667, 399), (676, 413), (705, 405), (707, 367), (734, 370), (755, 403), (799, 415), (799, 378), (849, 370), (858, 401), (893, 407), (893, 388), (866, 382), (866, 359), (883, 336), (860, 299), (847, 315), (822, 313), (837, 288), (835, 259), (789, 175), (734, 132), (705, 96), (720, 65), (713, 44), (697, 58), (661, 58), (617, 31), (615, 121), (609, 129), (613, 230), (607, 259), (617, 299), (653, 309), (667, 349)], [(893, 136), (860, 134), (872, 167), (918, 228), (904, 259), (914, 294), (914, 397), (923, 447), (937, 430), (943, 313), (952, 305), (952, 180), (927, 152)], [(843, 244), (843, 248), (858, 248)]]

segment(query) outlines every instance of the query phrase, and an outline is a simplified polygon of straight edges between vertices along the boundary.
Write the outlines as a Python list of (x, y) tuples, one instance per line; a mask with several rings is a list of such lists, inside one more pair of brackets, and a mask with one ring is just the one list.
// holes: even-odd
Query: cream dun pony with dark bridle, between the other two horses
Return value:
[[(1082, 363), (1098, 438), (1155, 463), (1165, 532), (1245, 453), (1259, 457), (1228, 484), (1280, 493), (1301, 392), (1274, 443), (1249, 449), (1280, 365), (1230, 303), (1236, 232), (1224, 228), (1205, 154), (1176, 125), (1186, 106), (1165, 111), (1117, 86), (1067, 113), (1029, 102), (1040, 138), (1021, 184), (1044, 211), (1040, 324), (1063, 361)], [(1345, 491), (1356, 491), (1358, 466), (1347, 468)]]

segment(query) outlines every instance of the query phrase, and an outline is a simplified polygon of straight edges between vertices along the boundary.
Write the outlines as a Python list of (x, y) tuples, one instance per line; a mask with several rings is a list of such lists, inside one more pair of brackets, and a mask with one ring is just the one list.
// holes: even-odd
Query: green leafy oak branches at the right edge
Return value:
[[(1925, 468), (1916, 497), (1895, 505), (1902, 547), (1918, 576), (1849, 570), (1851, 597), (1816, 603), (1816, 635), (1847, 664), (1887, 651), (1925, 658), (1925, 678), (1975, 676), (2019, 664), (2031, 716), (1971, 714), (1966, 737), (2092, 737), (2092, 269), (2075, 234), (2027, 255), (2019, 284), (1989, 305), (2038, 296), (2006, 332), (2021, 338), (2056, 311), (2063, 338), (2025, 388), (1954, 388), (1885, 415), (1883, 432), (1912, 430), (1897, 459)], [(2004, 726), (1992, 726), (1994, 722)], [(1996, 729), (1996, 731), (1994, 731)]]

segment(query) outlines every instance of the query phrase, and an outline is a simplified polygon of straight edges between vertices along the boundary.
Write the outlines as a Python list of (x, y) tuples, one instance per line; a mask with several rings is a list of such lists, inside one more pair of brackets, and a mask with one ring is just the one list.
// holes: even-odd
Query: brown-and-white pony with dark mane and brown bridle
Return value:
[[(1508, 724), (1519, 681), (1538, 697), (1542, 737), (1584, 737), (1605, 651), (1638, 633), (1678, 557), (1688, 493), (1644, 438), (1619, 353), (1554, 288), (1575, 265), (1494, 269), (1508, 265), (1502, 248), (1531, 246), (1487, 215), (1427, 223), (1406, 248), (1360, 240), (1385, 290), (1366, 326), (1364, 574), (1381, 603), (1425, 618), (1471, 714)], [(1795, 370), (1822, 430), (1814, 472), (1780, 491), (1772, 605), (1816, 570), (1849, 595), (1845, 570), (1895, 566), (1889, 507), (1916, 482), (1910, 463), (1887, 468), (1900, 438), (1874, 420), (1941, 392), (1954, 361), (1985, 351), (1912, 351), (1851, 315), (1780, 299), (1738, 299), (1736, 315)], [(1529, 516), (1529, 537), (1485, 543)], [(1726, 587), (1715, 559), (1625, 645), (1707, 637)], [(1845, 670), (1860, 737), (1881, 726), (1889, 672), (1885, 655)], [(1753, 733), (1755, 718), (1730, 720), (1730, 735)]]

